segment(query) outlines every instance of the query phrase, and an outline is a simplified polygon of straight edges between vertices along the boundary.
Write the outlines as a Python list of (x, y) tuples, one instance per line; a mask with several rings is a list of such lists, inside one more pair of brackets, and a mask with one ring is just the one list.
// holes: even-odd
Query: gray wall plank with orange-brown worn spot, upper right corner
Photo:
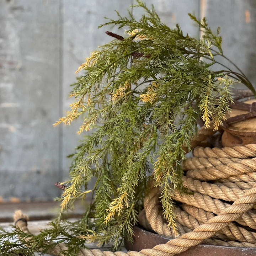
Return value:
[(256, 86), (256, 1), (204, 1), (205, 6), (202, 7), (205, 11), (203, 13), (205, 13), (209, 26), (212, 30), (218, 26), (221, 27), (220, 35), (224, 55), (238, 65)]

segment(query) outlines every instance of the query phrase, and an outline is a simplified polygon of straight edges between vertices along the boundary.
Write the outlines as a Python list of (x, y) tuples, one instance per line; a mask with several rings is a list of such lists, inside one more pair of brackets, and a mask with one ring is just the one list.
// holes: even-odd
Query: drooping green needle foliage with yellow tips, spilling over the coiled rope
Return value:
[[(69, 124), (81, 115), (84, 122), (79, 133), (87, 132), (70, 156), (73, 162), (61, 213), (87, 195), (91, 205), (74, 224), (63, 222), (60, 214), (51, 229), (33, 237), (29, 251), (39, 247), (46, 251), (49, 241), (58, 236), (70, 248), (82, 246), (83, 239), (112, 241), (118, 247), (121, 238), (130, 239), (133, 234), (149, 177), (161, 188), (164, 216), (175, 230), (171, 195), (174, 190), (185, 192), (181, 162), (197, 133), (198, 119), (218, 128), (229, 111), (234, 82), (241, 81), (255, 93), (239, 69), (239, 73), (231, 70), (237, 70), (235, 64), (229, 61), (229, 68), (220, 63), (220, 58), (227, 59), (220, 29), (213, 33), (205, 18), (199, 21), (190, 14), (203, 30), (202, 38), (196, 39), (184, 35), (178, 25), (167, 27), (143, 2), (138, 0), (133, 7), (142, 7), (146, 14), (135, 20), (131, 13), (129, 18), (117, 13), (118, 20), (104, 24), (126, 28), (127, 35), (108, 33), (115, 39), (92, 52), (80, 66), (83, 74), (70, 94), (75, 103), (57, 122)], [(223, 69), (213, 71), (216, 63)], [(97, 178), (95, 187), (87, 191), (92, 177)], [(1, 234), (3, 243), (14, 233)], [(1, 255), (10, 251), (8, 242), (1, 246)], [(14, 247), (23, 250), (23, 244), (20, 239)]]

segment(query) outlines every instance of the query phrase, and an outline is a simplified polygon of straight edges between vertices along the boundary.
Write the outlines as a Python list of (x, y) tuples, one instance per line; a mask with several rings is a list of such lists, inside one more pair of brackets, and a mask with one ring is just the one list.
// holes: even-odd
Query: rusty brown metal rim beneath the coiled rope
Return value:
[[(165, 244), (170, 240), (170, 238), (146, 231), (138, 226), (134, 226), (133, 231), (133, 243), (127, 240), (125, 241), (125, 247), (129, 251), (140, 251), (142, 249), (153, 248), (155, 245)], [(201, 244), (180, 253), (179, 256), (226, 256), (229, 254), (232, 256), (256, 256), (256, 249)]]

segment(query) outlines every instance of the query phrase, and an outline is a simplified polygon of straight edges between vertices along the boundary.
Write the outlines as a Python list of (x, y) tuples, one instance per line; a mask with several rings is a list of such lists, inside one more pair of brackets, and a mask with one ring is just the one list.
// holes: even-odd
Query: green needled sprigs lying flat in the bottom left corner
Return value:
[[(41, 230), (40, 234), (25, 234), (19, 229), (4, 230), (0, 228), (0, 255), (1, 256), (34, 256), (35, 252), (47, 253), (57, 243), (65, 242), (68, 246), (63, 254), (75, 256), (80, 247), (85, 247), (84, 240), (79, 235), (92, 232), (93, 224), (86, 218), (69, 222), (58, 219), (49, 223), (49, 228)], [(14, 228), (14, 227), (13, 227)]]

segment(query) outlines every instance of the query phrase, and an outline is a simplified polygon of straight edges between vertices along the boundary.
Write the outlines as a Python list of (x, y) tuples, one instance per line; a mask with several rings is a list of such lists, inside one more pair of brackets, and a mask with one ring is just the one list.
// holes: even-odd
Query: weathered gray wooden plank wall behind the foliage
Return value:
[[(81, 138), (71, 126), (53, 127), (72, 99), (75, 70), (110, 38), (97, 29), (104, 16), (122, 15), (134, 0), (0, 1), (0, 202), (43, 201), (59, 195)], [(256, 84), (255, 0), (145, 0), (162, 20), (199, 37), (188, 17), (222, 27), (223, 49)], [(133, 15), (140, 17), (134, 9)], [(113, 32), (115, 28), (108, 28)]]

